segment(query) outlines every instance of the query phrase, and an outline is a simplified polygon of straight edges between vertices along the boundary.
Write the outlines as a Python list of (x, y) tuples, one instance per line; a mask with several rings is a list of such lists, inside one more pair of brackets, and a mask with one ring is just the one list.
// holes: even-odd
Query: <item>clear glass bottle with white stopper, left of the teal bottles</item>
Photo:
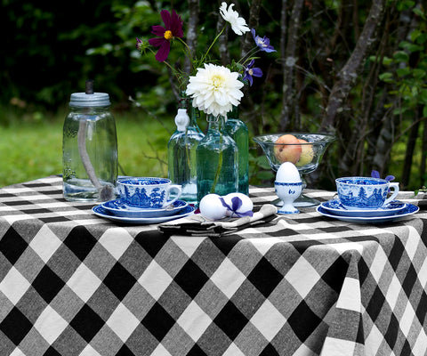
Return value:
[[(190, 115), (188, 115), (188, 110)], [(176, 131), (167, 143), (169, 179), (182, 187), (181, 199), (197, 203), (196, 150), (205, 136), (197, 125), (196, 109), (182, 98), (175, 117)]]

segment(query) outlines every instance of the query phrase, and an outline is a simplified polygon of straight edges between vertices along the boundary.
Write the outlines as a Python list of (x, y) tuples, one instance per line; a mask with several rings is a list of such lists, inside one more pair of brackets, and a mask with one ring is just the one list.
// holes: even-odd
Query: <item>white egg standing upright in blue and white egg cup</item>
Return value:
[(296, 166), (291, 162), (284, 162), (278, 167), (274, 189), (283, 206), (278, 214), (297, 214), (300, 211), (294, 206), (294, 200), (301, 195), (302, 180)]

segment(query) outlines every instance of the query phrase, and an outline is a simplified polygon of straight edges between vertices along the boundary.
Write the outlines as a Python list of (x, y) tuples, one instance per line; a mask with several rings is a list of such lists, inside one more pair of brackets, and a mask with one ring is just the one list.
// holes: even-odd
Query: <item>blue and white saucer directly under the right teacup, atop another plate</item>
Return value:
[(331, 214), (340, 216), (354, 216), (354, 217), (377, 217), (377, 216), (389, 216), (396, 214), (403, 210), (407, 204), (402, 203), (399, 200), (393, 200), (389, 204), (379, 207), (378, 209), (346, 209), (340, 199), (332, 199), (325, 201), (320, 204), (325, 210)]

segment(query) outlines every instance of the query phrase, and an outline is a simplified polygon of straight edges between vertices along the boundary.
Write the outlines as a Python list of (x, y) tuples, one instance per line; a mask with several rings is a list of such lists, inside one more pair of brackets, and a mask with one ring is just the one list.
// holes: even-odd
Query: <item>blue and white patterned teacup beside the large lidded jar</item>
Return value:
[[(174, 198), (169, 195), (174, 190)], [(117, 192), (128, 206), (143, 209), (162, 209), (181, 197), (181, 185), (167, 178), (133, 177), (117, 182)]]

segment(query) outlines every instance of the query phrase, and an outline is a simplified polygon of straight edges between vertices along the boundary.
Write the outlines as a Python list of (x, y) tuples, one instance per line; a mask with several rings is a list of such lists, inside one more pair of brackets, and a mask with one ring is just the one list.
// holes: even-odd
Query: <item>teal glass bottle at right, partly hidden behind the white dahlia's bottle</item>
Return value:
[(249, 194), (249, 130), (238, 118), (238, 107), (230, 111), (225, 125), (227, 134), (238, 145), (238, 192)]

